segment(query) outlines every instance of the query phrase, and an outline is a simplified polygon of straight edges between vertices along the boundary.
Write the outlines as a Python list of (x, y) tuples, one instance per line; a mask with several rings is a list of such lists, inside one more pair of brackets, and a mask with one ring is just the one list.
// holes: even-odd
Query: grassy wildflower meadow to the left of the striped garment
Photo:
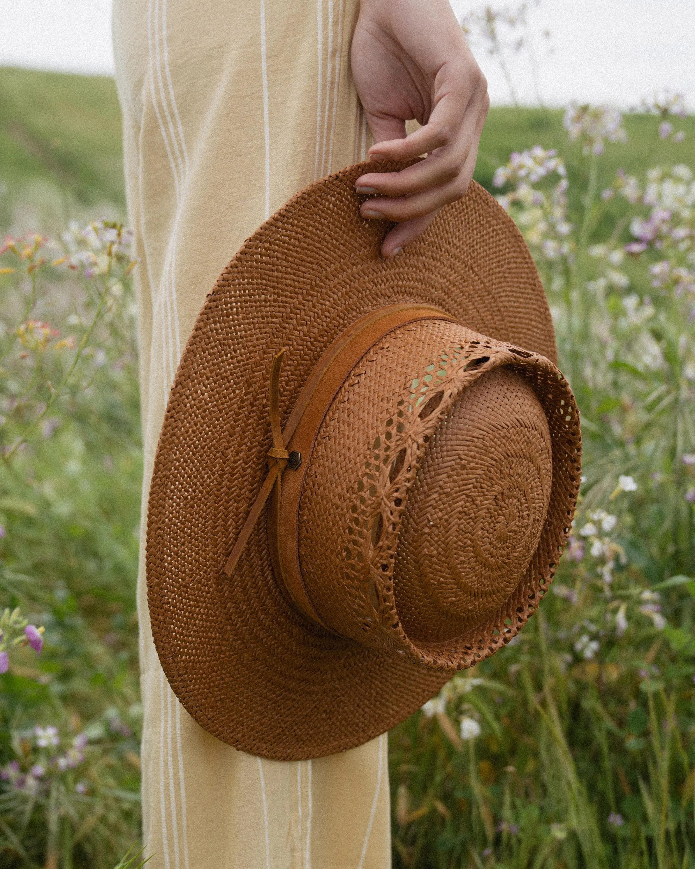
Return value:
[(134, 265), (116, 222), (0, 247), (3, 867), (110, 869), (139, 836)]

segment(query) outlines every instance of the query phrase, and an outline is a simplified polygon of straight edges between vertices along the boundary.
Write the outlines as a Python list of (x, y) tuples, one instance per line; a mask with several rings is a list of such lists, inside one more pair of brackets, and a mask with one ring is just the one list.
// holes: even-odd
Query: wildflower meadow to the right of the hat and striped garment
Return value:
[[(643, 110), (683, 141), (680, 97)], [(579, 509), (525, 630), (391, 734), (396, 866), (695, 866), (695, 175), (632, 174), (615, 110), (564, 127), (493, 189), (579, 401)]]

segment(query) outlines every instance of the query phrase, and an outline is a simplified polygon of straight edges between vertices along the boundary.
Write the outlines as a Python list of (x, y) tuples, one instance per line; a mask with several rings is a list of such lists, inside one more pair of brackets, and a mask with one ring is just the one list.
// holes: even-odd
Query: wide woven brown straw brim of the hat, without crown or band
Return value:
[(281, 418), (328, 346), (389, 304), (434, 305), (468, 328), (556, 360), (533, 259), (478, 184), (394, 260), (387, 222), (359, 215), (361, 163), (312, 184), (229, 262), (175, 377), (149, 495), (152, 633), (169, 684), (209, 733), (245, 752), (306, 760), (384, 733), (451, 673), (363, 647), (288, 604), (261, 517), (229, 579), (225, 561), (266, 474), (268, 370), (287, 348)]

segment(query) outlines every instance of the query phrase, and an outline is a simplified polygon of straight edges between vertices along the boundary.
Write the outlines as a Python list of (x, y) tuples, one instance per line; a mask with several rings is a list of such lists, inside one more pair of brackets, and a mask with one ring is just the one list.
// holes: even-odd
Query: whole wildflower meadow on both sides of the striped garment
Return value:
[[(477, 177), (538, 264), (585, 477), (539, 612), (390, 734), (396, 869), (695, 867), (684, 115), (668, 93), (627, 116), (491, 111)], [(0, 866), (135, 869), (137, 266), (116, 220), (50, 241), (13, 213), (0, 202)]]

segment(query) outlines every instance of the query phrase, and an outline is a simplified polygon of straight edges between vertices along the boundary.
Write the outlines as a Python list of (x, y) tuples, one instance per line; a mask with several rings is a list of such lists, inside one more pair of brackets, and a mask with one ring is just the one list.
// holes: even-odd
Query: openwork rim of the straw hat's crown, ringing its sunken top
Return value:
[[(526, 623), (553, 579), (579, 492), (579, 413), (564, 376), (544, 356), (469, 334), (470, 340), (443, 349), (410, 381), (382, 434), (370, 444), (344, 549), (347, 573), (363, 591), (357, 614), (363, 641), (442, 669), (472, 666), (504, 646)], [(491, 619), (457, 640), (416, 645), (403, 630), (394, 596), (395, 553), (407, 495), (428, 445), (461, 391), (500, 366), (526, 378), (546, 413), (553, 441), (553, 495), (544, 531), (525, 579)]]

